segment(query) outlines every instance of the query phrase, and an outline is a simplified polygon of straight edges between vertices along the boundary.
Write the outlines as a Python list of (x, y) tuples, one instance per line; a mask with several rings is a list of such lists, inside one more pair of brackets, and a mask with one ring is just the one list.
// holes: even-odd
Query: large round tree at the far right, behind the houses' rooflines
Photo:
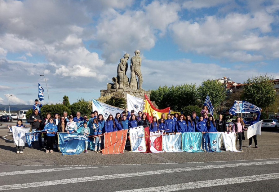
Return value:
[(248, 77), (243, 86), (243, 99), (255, 104), (258, 107), (265, 108), (271, 106), (276, 101), (274, 82), (271, 76), (260, 75)]

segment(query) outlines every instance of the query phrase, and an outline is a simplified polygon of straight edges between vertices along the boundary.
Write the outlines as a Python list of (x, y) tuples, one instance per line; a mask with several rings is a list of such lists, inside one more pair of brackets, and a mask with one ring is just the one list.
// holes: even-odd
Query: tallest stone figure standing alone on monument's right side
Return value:
[[(142, 74), (140, 71), (140, 65), (141, 65), (141, 58), (139, 57), (139, 50), (135, 50), (135, 56), (131, 58), (131, 79), (130, 79), (130, 86), (129, 88), (131, 90), (143, 90), (142, 89)], [(137, 84), (137, 78), (139, 78), (139, 86)]]

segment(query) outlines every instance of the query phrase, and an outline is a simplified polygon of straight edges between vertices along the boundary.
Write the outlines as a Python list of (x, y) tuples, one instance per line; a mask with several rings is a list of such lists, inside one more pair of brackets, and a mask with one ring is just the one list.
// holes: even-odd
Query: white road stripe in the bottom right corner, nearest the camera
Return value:
[(237, 184), (237, 183), (263, 181), (269, 179), (279, 179), (279, 173), (251, 175), (245, 177), (233, 177), (233, 178), (225, 178), (225, 179), (214, 179), (214, 180), (207, 180), (207, 181), (189, 182), (189, 183), (181, 183), (175, 185), (148, 187), (148, 188), (123, 190), (123, 191), (116, 191), (116, 192), (153, 192), (153, 191), (170, 192), (170, 191), (180, 191), (180, 190), (187, 190), (187, 189), (198, 189), (204, 187), (214, 187), (214, 186), (221, 186), (221, 185), (230, 185), (230, 184)]

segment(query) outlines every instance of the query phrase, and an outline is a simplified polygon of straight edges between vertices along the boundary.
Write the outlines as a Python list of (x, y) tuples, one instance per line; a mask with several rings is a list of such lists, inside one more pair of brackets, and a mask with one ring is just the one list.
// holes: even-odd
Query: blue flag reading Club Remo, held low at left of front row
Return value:
[(58, 134), (58, 149), (62, 155), (78, 155), (85, 149), (85, 140), (69, 139), (64, 140), (64, 137), (77, 137), (79, 133), (57, 133)]

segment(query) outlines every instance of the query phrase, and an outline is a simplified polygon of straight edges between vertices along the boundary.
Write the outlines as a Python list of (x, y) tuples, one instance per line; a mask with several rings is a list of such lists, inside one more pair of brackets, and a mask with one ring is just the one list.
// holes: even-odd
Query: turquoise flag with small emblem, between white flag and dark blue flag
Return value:
[(182, 150), (186, 152), (203, 152), (201, 149), (201, 132), (181, 133)]

